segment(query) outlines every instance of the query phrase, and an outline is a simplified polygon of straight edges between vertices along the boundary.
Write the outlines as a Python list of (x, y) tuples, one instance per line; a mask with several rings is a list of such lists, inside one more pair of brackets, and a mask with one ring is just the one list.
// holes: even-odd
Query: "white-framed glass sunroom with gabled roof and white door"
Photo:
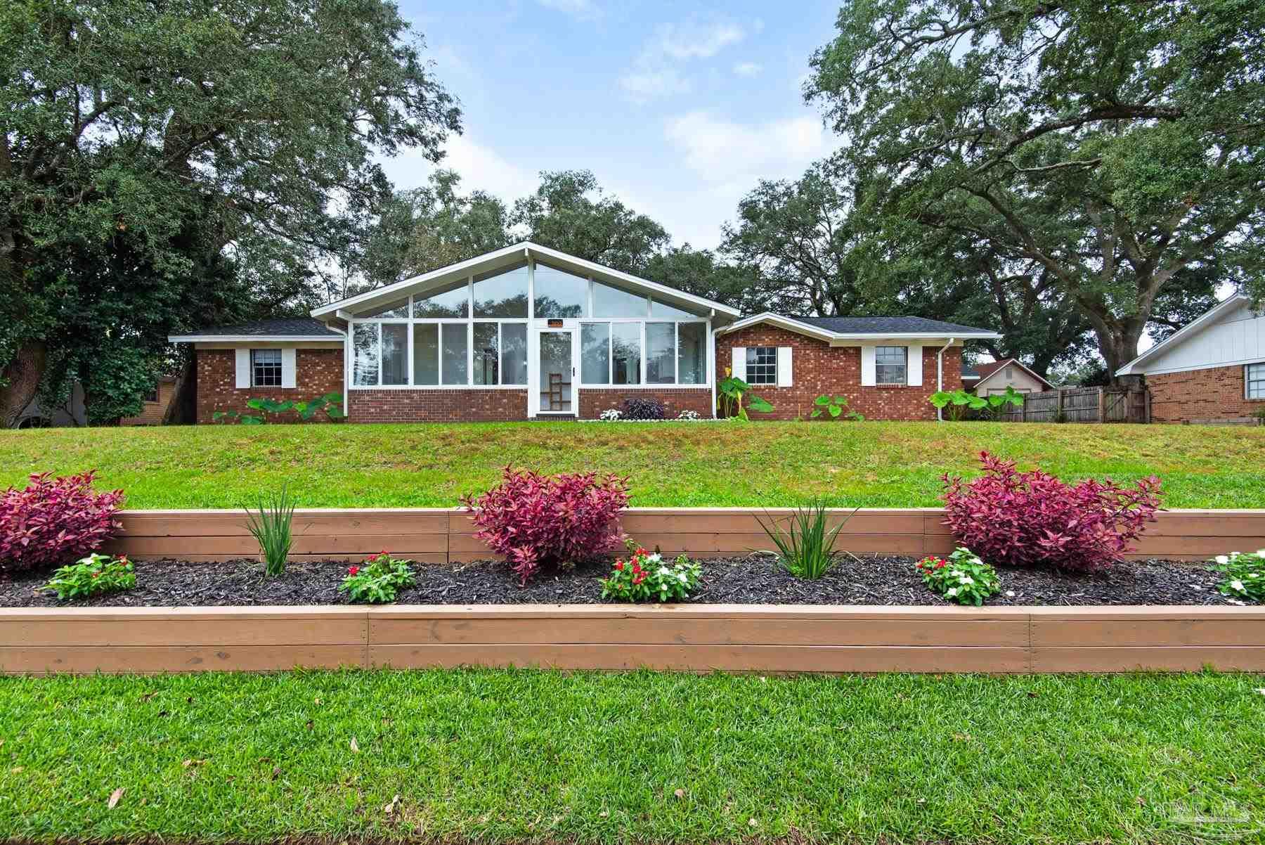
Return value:
[(576, 416), (577, 391), (712, 390), (732, 307), (533, 243), (312, 310), (344, 328), (355, 391), (515, 390), (525, 416)]

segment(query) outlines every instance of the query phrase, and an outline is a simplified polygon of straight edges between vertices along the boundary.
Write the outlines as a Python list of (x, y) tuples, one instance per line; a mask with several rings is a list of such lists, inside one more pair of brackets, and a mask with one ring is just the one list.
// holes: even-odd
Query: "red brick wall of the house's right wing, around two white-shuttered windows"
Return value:
[[(934, 420), (936, 409), (927, 397), (936, 392), (936, 352), (939, 347), (922, 348), (922, 386), (861, 387), (860, 347), (831, 347), (825, 340), (807, 338), (770, 325), (753, 325), (721, 335), (716, 344), (716, 372), (724, 377), (732, 366), (734, 347), (791, 347), (792, 387), (760, 385), (753, 392), (773, 405), (773, 414), (751, 414), (753, 420), (805, 419), (812, 402), (822, 393), (848, 397), (850, 410), (868, 420)], [(951, 347), (944, 355), (945, 390), (961, 387), (961, 347)]]

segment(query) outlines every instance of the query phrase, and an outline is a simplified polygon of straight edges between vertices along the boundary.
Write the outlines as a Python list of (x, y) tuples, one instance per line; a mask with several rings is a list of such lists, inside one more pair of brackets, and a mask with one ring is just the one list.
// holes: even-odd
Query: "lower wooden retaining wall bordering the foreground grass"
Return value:
[(1265, 608), (386, 606), (0, 610), (3, 673), (552, 667), (1265, 670)]

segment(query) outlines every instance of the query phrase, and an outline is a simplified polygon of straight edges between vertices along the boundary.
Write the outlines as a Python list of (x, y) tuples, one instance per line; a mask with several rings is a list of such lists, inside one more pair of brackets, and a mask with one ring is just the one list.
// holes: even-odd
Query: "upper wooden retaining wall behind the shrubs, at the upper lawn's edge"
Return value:
[[(646, 548), (697, 558), (769, 549), (759, 520), (784, 519), (787, 509), (632, 507), (624, 530)], [(842, 520), (851, 511), (832, 511)], [(258, 555), (240, 511), (125, 511), (123, 531), (108, 550), (134, 559), (226, 560)], [(837, 548), (855, 554), (946, 554), (954, 543), (940, 509), (865, 509), (848, 517)], [(382, 549), (419, 563), (459, 563), (492, 557), (468, 515), (445, 509), (299, 510), (295, 560), (358, 560)], [(1265, 548), (1265, 510), (1161, 511), (1135, 558), (1204, 559)]]

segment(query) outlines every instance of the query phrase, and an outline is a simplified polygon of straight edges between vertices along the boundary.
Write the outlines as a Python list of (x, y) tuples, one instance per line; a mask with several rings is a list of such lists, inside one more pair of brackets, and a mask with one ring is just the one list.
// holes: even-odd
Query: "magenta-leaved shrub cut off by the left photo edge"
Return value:
[(0, 496), (0, 572), (61, 567), (96, 552), (121, 527), (123, 491), (92, 490), (96, 471), (30, 477), (25, 490)]

